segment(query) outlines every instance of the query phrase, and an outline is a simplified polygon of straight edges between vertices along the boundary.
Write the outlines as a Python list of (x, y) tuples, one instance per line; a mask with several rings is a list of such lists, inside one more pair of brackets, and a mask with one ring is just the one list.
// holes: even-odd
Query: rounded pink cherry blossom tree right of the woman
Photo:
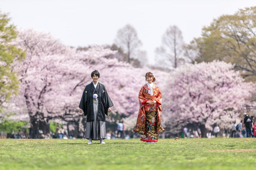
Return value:
[(165, 126), (179, 133), (189, 123), (200, 127), (203, 136), (214, 123), (230, 128), (240, 122), (248, 98), (255, 91), (239, 72), (226, 62), (185, 64), (171, 73), (163, 114)]

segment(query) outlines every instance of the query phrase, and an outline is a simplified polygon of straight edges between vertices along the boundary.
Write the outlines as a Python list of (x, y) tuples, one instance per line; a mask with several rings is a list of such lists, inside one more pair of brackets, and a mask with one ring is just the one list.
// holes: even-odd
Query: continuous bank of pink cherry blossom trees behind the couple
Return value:
[(16, 63), (15, 71), (20, 72), (19, 96), (7, 103), (6, 112), (16, 113), (17, 120), (29, 119), (34, 132), (38, 128), (47, 132), (49, 121), (71, 124), (70, 129), (84, 131), (86, 119), (78, 112), (78, 105), (85, 86), (92, 81), (93, 70), (100, 72), (99, 82), (106, 86), (114, 103), (106, 121), (115, 122), (115, 115), (121, 115), (127, 130), (136, 123), (138, 92), (149, 71), (155, 74), (155, 83), (162, 92), (163, 125), (173, 133), (188, 123), (204, 131), (214, 123), (229, 126), (238, 120), (245, 104), (250, 105), (247, 97), (255, 89), (225, 62), (186, 64), (168, 73), (134, 68), (109, 57), (117, 51), (104, 46), (76, 51), (49, 34), (33, 30), (20, 31), (16, 43), (26, 50), (26, 59)]

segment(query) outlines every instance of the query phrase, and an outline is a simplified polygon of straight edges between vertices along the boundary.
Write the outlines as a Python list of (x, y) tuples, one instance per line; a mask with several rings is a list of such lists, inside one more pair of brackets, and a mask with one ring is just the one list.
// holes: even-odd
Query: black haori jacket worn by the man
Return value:
[(114, 105), (108, 96), (107, 90), (103, 84), (98, 82), (95, 91), (94, 89), (95, 88), (92, 82), (91, 84), (88, 84), (83, 91), (83, 95), (79, 104), (79, 108), (84, 111), (84, 116), (86, 116), (86, 122), (91, 122), (94, 120), (93, 94), (98, 94), (99, 100), (97, 120), (105, 121), (105, 114), (108, 116), (108, 108)]

